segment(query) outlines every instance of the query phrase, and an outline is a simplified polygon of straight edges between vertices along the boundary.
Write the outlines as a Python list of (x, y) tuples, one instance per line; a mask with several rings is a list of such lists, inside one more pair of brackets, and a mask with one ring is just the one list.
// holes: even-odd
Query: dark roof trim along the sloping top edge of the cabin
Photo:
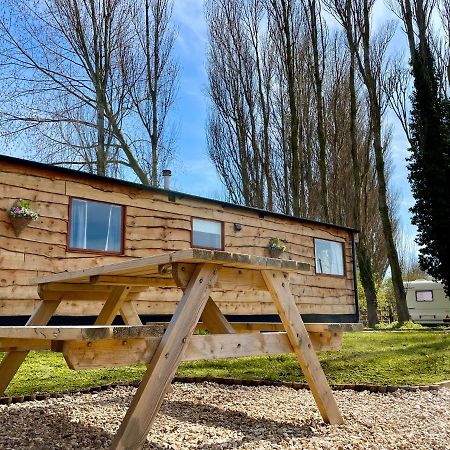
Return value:
[(81, 177), (84, 177), (84, 178), (89, 178), (91, 180), (107, 181), (109, 183), (115, 183), (115, 184), (119, 184), (119, 185), (122, 185), (122, 186), (130, 186), (130, 187), (137, 188), (137, 189), (144, 189), (146, 191), (157, 192), (157, 193), (160, 193), (160, 194), (168, 194), (170, 201), (175, 201), (177, 197), (180, 198), (180, 199), (186, 198), (186, 199), (191, 199), (191, 200), (199, 200), (199, 201), (202, 201), (202, 202), (208, 202), (208, 203), (212, 203), (212, 204), (215, 204), (215, 205), (219, 205), (219, 206), (222, 206), (223, 208), (233, 208), (233, 209), (238, 209), (238, 210), (241, 210), (241, 211), (253, 212), (253, 213), (256, 213), (260, 218), (264, 218), (265, 216), (278, 217), (278, 218), (283, 218), (283, 219), (296, 220), (296, 221), (301, 222), (301, 223), (325, 225), (327, 227), (340, 228), (342, 230), (347, 230), (347, 231), (351, 231), (351, 232), (358, 232), (358, 230), (356, 230), (355, 228), (345, 227), (345, 226), (342, 226), (342, 225), (335, 225), (335, 224), (332, 224), (332, 223), (321, 222), (319, 220), (304, 219), (302, 217), (289, 216), (287, 214), (281, 214), (281, 213), (277, 213), (277, 212), (266, 211), (264, 209), (252, 208), (250, 206), (237, 205), (235, 203), (225, 202), (225, 201), (222, 201), (222, 200), (214, 200), (212, 198), (207, 198), (207, 197), (200, 197), (198, 195), (186, 194), (184, 192), (166, 191), (166, 190), (161, 189), (161, 188), (154, 188), (154, 187), (151, 187), (151, 186), (145, 186), (143, 184), (133, 183), (131, 181), (125, 181), (125, 180), (120, 180), (120, 179), (117, 179), (117, 178), (111, 178), (111, 177), (105, 177), (105, 176), (101, 176), (101, 175), (95, 175), (95, 174), (88, 173), (88, 172), (82, 172), (80, 170), (68, 169), (67, 167), (54, 166), (54, 165), (51, 165), (51, 164), (44, 164), (44, 163), (41, 163), (41, 162), (31, 161), (31, 160), (28, 160), (28, 159), (15, 158), (13, 156), (0, 155), (0, 162), (1, 161), (9, 162), (9, 163), (12, 163), (12, 164), (26, 165), (26, 166), (29, 166), (29, 167), (34, 167), (36, 169), (50, 170), (50, 171), (59, 172), (59, 173), (63, 173), (63, 174), (75, 175), (75, 176), (78, 176), (78, 177), (81, 176)]

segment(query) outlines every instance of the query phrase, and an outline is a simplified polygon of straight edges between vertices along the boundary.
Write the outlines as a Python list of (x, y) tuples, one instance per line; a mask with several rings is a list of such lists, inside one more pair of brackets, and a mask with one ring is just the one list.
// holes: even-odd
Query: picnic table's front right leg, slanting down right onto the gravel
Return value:
[(261, 273), (324, 422), (342, 424), (341, 412), (290, 291), (288, 275), (273, 270)]

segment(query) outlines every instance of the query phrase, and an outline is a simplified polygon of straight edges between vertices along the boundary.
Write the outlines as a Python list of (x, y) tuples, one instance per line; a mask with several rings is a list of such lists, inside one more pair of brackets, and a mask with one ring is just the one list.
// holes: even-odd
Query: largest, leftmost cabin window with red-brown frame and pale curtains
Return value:
[(124, 207), (72, 198), (69, 249), (123, 252)]

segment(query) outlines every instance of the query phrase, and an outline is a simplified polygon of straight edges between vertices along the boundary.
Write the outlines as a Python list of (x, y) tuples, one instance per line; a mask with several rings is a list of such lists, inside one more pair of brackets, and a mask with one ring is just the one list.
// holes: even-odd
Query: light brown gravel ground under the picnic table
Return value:
[[(0, 405), (0, 449), (107, 448), (135, 388)], [(145, 449), (450, 449), (450, 389), (335, 392), (342, 426), (309, 391), (174, 384)]]

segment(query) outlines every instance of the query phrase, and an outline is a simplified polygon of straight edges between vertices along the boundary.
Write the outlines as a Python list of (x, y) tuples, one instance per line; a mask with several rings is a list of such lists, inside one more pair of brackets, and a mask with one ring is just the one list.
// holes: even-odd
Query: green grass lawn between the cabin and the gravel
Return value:
[[(344, 335), (343, 350), (319, 353), (331, 384), (432, 384), (450, 379), (450, 333), (376, 331)], [(31, 352), (8, 395), (73, 391), (114, 381), (139, 380), (144, 367), (70, 370), (59, 353)], [(180, 376), (304, 381), (293, 355), (183, 363)]]

